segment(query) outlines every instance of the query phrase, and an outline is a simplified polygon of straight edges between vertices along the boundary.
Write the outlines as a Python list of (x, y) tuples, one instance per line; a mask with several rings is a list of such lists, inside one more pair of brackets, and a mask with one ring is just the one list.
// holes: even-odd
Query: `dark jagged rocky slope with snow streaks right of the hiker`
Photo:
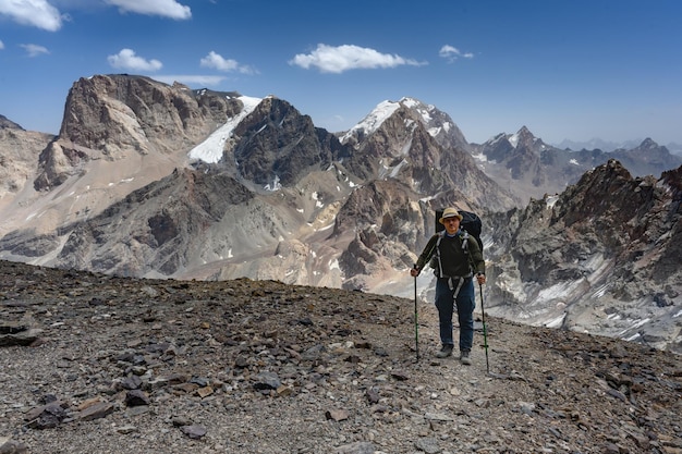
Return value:
[(611, 160), (497, 219), (490, 314), (682, 353), (680, 181), (682, 167), (634, 179)]

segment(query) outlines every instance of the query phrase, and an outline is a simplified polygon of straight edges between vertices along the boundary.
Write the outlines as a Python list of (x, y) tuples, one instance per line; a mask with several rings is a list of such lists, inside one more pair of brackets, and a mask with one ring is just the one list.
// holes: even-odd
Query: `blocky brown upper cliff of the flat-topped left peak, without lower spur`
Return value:
[(227, 119), (229, 101), (210, 96), (210, 102), (202, 102), (206, 96), (143, 76), (81, 78), (66, 99), (60, 138), (112, 157), (129, 148), (172, 152), (182, 144), (195, 144)]

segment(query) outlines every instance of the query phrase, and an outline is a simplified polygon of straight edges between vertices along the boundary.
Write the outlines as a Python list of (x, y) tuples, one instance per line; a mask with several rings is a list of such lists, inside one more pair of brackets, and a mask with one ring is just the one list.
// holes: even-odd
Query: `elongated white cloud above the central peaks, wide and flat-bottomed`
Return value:
[(426, 63), (353, 45), (333, 47), (320, 44), (310, 53), (296, 54), (289, 61), (289, 64), (295, 64), (305, 70), (317, 68), (322, 73), (342, 73), (350, 70), (395, 68), (405, 64), (421, 66)]

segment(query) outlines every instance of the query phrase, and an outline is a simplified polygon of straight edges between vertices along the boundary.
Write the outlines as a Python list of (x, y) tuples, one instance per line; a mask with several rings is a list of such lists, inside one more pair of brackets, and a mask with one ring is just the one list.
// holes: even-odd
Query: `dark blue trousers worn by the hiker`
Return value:
[[(453, 282), (456, 286), (456, 281)], [(474, 343), (474, 308), (476, 307), (474, 280), (467, 279), (462, 284), (455, 300), (448, 279), (437, 278), (436, 308), (438, 309), (438, 322), (440, 326), (440, 342), (443, 345), (454, 345), (454, 340), (452, 339), (452, 314), (455, 303), (458, 321), (460, 322), (460, 349), (471, 351)]]

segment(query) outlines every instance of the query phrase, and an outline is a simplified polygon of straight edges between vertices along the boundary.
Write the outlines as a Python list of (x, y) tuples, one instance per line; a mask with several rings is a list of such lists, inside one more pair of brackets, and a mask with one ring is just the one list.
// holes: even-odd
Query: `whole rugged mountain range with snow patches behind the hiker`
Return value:
[(2, 118), (0, 258), (428, 299), (406, 270), (455, 206), (484, 219), (491, 314), (680, 353), (681, 164), (650, 138), (470, 144), (409, 97), (330, 133), (275, 96), (97, 75), (57, 136)]

